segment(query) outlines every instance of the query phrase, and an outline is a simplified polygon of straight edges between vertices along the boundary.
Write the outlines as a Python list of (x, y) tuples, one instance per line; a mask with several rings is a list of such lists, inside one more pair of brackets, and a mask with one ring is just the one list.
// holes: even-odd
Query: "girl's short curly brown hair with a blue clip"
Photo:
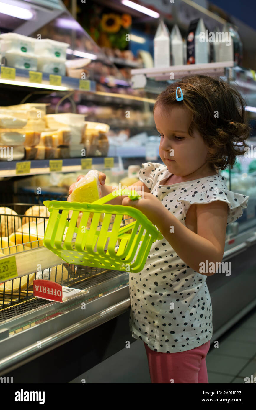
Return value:
[[(183, 93), (181, 101), (176, 100), (177, 87), (181, 87)], [(209, 149), (211, 168), (224, 170), (230, 165), (232, 169), (236, 157), (244, 155), (248, 147), (245, 140), (251, 131), (246, 123), (247, 104), (240, 93), (226, 82), (208, 75), (187, 75), (159, 94), (153, 112), (159, 105), (165, 109), (174, 104), (189, 109), (192, 121), (188, 133), (192, 137), (195, 128), (203, 137)]]

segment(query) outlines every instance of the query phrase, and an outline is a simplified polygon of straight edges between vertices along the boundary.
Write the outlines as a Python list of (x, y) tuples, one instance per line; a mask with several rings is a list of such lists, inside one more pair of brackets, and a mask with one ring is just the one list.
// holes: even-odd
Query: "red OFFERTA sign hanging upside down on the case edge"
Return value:
[(62, 285), (51, 280), (36, 279), (33, 281), (33, 295), (48, 301), (62, 302)]

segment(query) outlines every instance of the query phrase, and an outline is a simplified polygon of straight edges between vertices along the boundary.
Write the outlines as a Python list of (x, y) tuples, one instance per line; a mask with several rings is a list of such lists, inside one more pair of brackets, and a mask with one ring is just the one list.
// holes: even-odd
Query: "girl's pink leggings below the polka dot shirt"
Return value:
[(209, 383), (205, 358), (210, 340), (194, 349), (177, 353), (155, 352), (145, 343), (144, 346), (151, 383)]

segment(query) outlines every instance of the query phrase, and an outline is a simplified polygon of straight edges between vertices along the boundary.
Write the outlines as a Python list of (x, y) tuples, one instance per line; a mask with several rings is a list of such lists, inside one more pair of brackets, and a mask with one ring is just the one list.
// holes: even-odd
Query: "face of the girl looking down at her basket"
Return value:
[(203, 137), (196, 130), (193, 137), (188, 134), (191, 117), (187, 109), (174, 105), (167, 112), (158, 106), (154, 120), (161, 135), (159, 155), (170, 173), (183, 177), (199, 168), (200, 171), (210, 171), (206, 162), (208, 148)]

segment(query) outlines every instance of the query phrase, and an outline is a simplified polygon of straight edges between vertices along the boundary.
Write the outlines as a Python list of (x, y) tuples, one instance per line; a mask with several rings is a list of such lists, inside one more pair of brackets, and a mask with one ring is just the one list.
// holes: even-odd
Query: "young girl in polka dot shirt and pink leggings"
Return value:
[[(238, 91), (205, 75), (171, 84), (153, 109), (163, 164), (142, 164), (133, 185), (144, 190), (142, 199), (109, 202), (141, 210), (163, 235), (129, 279), (130, 330), (144, 342), (152, 383), (208, 383), (213, 325), (206, 278), (222, 261), (226, 225), (242, 216), (249, 198), (229, 191), (217, 170), (233, 167), (247, 146), (244, 106)], [(113, 191), (105, 178), (100, 173), (103, 195)]]

